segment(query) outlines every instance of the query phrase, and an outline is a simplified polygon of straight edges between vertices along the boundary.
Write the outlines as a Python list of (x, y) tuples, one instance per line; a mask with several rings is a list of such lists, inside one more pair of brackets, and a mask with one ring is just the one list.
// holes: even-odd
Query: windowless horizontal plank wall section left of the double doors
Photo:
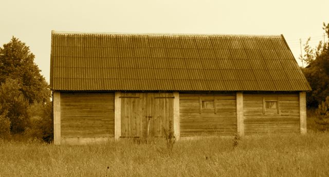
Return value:
[(61, 135), (113, 137), (114, 93), (61, 93)]

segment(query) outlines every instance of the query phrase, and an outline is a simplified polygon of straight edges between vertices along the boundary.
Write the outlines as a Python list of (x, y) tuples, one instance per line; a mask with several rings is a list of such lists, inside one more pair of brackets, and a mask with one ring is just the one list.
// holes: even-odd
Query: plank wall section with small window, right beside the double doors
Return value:
[[(214, 100), (214, 109), (202, 109), (202, 101)], [(180, 136), (234, 135), (236, 94), (179, 94)]]

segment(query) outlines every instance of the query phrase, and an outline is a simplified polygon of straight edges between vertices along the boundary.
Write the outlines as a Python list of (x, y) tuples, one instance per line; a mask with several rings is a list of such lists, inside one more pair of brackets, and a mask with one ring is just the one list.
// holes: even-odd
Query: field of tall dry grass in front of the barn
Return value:
[[(108, 169), (107, 169), (108, 166)], [(0, 176), (329, 176), (329, 134), (54, 146), (0, 141)]]

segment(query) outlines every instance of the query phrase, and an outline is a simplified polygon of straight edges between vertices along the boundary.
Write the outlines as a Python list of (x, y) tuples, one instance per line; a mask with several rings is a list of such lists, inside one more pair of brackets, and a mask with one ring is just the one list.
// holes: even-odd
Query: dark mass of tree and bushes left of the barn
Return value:
[(52, 140), (51, 92), (33, 60), (29, 47), (15, 37), (0, 47), (0, 128), (8, 132), (9, 127), (12, 134), (29, 130), (30, 135), (49, 142)]

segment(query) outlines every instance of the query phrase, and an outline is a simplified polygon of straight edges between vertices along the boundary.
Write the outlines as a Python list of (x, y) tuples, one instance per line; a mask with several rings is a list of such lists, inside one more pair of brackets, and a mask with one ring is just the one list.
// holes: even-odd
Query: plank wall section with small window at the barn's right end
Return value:
[[(264, 101), (277, 100), (279, 110), (263, 111)], [(300, 132), (299, 94), (243, 94), (245, 134)]]

